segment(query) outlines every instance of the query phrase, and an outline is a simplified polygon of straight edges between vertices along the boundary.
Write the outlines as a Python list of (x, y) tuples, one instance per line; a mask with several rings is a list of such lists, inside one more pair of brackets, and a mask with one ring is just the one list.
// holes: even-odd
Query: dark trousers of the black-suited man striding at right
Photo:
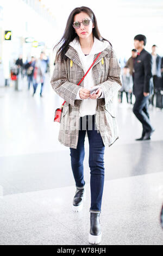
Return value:
[(145, 97), (143, 94), (135, 95), (133, 112), (136, 115), (137, 119), (139, 119), (139, 121), (142, 123), (142, 135), (144, 135), (145, 132), (150, 132), (153, 130), (151, 121), (149, 119), (148, 106), (149, 96)]

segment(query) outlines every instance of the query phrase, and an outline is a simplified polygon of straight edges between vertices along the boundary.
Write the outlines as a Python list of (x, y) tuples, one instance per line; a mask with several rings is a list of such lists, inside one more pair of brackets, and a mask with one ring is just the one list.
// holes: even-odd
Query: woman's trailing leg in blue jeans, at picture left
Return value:
[[(80, 117), (80, 120), (82, 118)], [(82, 124), (82, 121), (80, 121)], [(70, 156), (71, 156), (71, 167), (74, 176), (74, 180), (76, 181), (76, 187), (82, 188), (85, 185), (84, 181), (84, 168), (83, 168), (83, 161), (85, 156), (85, 149), (84, 149), (84, 141), (85, 141), (85, 134), (86, 130), (79, 130), (79, 137), (78, 137), (78, 145), (77, 149), (70, 148)]]

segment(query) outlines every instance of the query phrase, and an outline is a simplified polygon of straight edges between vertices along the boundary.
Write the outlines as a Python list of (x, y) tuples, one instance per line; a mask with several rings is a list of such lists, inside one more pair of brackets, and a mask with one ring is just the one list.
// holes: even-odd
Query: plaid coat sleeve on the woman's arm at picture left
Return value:
[(75, 106), (76, 96), (81, 87), (68, 82), (67, 72), (66, 62), (62, 62), (59, 56), (58, 60), (55, 62), (51, 85), (55, 93), (62, 97), (67, 103)]

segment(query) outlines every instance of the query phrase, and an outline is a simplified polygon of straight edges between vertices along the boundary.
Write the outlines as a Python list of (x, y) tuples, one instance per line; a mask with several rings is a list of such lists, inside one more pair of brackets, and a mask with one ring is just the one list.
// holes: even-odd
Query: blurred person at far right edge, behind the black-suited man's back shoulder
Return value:
[(154, 106), (154, 95), (157, 92), (157, 88), (159, 87), (159, 80), (158, 78), (161, 77), (161, 57), (157, 54), (157, 46), (152, 46), (152, 76), (153, 76), (153, 86), (154, 86), (154, 93), (151, 97), (150, 103)]

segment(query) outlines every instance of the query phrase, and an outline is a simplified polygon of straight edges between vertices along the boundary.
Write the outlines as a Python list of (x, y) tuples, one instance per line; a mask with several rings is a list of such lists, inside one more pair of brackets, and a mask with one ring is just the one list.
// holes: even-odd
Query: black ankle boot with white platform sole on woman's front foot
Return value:
[(99, 221), (99, 215), (100, 214), (94, 214), (91, 212), (90, 216), (90, 233), (89, 233), (89, 243), (92, 243), (93, 245), (97, 245), (97, 243), (101, 242), (102, 232), (100, 227), (100, 221)]

